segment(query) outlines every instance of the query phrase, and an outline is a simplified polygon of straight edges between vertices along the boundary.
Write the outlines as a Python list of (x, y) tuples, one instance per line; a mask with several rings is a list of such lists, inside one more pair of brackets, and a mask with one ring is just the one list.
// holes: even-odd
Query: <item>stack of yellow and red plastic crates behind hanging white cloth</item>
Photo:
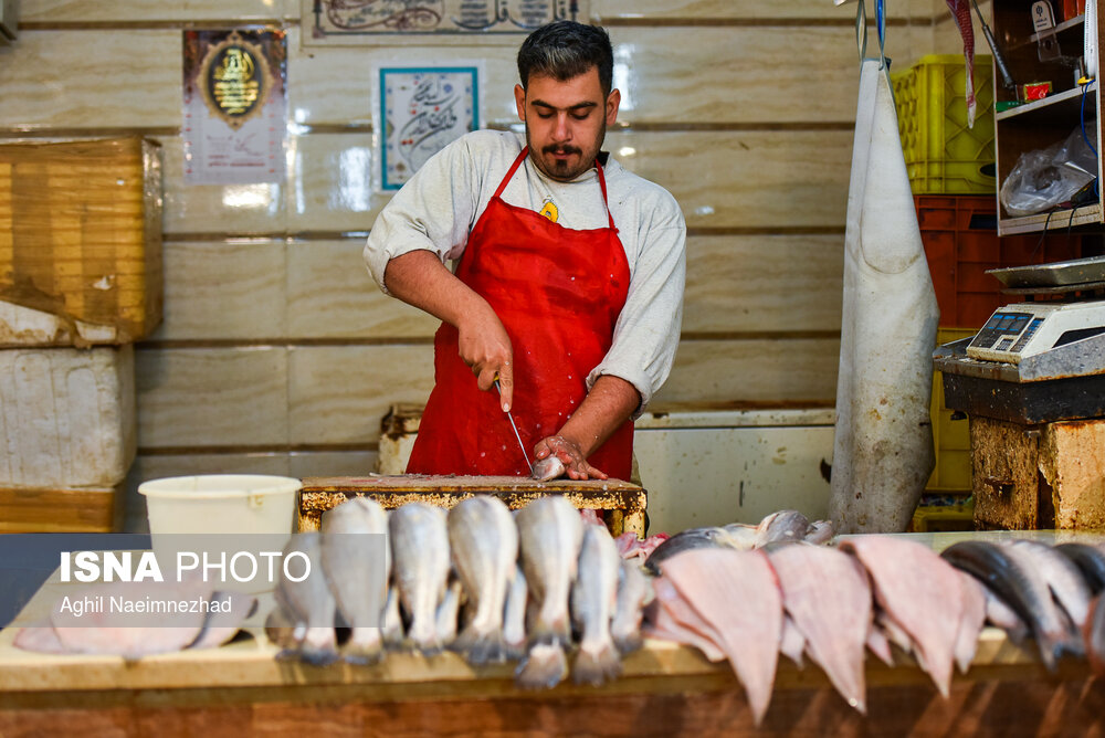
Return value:
[[(974, 335), (993, 310), (1017, 302), (1003, 295), (987, 270), (1077, 259), (1082, 241), (1060, 233), (998, 238), (994, 182), (993, 67), (990, 56), (975, 59), (977, 98), (968, 126), (967, 71), (960, 55), (924, 56), (892, 75), (898, 133), (917, 207), (917, 221), (940, 307), (937, 342)], [(967, 495), (971, 489), (970, 435), (944, 405), (940, 372), (933, 380), (933, 435), (936, 468), (927, 492)], [(934, 529), (941, 516), (915, 519)], [(967, 512), (960, 517), (966, 517)], [(954, 518), (955, 516), (945, 516)]]

